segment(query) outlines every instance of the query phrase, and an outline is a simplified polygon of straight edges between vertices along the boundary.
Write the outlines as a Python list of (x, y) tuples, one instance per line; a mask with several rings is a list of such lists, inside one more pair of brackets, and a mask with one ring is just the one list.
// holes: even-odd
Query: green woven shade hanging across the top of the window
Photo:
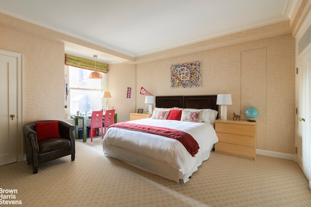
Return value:
[[(74, 55), (65, 54), (65, 64), (80, 67), (83, 69), (94, 70), (95, 71), (95, 61), (88, 60), (85, 58), (80, 58)], [(108, 72), (108, 64), (101, 63), (96, 61), (96, 71), (107, 73)]]

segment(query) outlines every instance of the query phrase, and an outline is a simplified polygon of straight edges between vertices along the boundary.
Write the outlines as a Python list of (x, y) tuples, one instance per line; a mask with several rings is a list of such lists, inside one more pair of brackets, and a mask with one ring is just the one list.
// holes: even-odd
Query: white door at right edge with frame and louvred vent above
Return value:
[(311, 14), (296, 38), (296, 159), (311, 189)]

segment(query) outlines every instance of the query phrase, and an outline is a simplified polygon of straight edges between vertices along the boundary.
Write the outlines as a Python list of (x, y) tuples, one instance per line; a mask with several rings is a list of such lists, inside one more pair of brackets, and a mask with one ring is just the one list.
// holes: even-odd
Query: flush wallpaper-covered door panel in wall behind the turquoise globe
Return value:
[(257, 121), (256, 148), (266, 149), (267, 111), (267, 48), (241, 52), (241, 118), (247, 120), (245, 110), (255, 107)]

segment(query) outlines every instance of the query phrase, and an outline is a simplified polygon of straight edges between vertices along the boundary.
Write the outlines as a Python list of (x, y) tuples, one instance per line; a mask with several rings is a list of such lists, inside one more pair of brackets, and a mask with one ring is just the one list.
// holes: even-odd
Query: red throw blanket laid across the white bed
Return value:
[(172, 128), (165, 128), (165, 127), (153, 127), (153, 126), (147, 126), (147, 125), (138, 125), (138, 124), (132, 124), (132, 123), (125, 123), (125, 122), (119, 122), (116, 124), (111, 125), (110, 127), (118, 127), (118, 128), (124, 128), (129, 129), (133, 131), (141, 131), (151, 134), (157, 134), (164, 137), (172, 138), (175, 140), (178, 140), (180, 143), (182, 143), (187, 151), (190, 153), (192, 157), (199, 151), (199, 144), (195, 141), (195, 139), (188, 133)]

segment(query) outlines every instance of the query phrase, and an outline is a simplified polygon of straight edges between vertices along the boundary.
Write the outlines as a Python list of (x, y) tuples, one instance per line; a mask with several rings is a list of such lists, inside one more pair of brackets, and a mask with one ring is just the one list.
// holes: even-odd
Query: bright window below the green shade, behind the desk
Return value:
[(104, 91), (105, 73), (103, 79), (89, 79), (91, 70), (69, 66), (70, 112), (76, 114), (91, 113), (102, 109), (102, 92)]

